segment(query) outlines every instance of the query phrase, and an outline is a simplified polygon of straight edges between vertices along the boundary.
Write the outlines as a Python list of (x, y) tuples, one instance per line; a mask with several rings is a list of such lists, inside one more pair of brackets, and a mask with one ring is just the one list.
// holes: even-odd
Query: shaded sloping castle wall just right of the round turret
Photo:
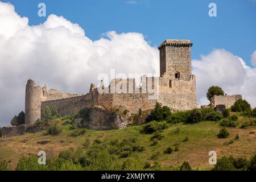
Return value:
[(62, 98), (59, 100), (52, 101), (44, 101), (42, 102), (42, 111), (46, 108), (46, 106), (55, 106), (59, 111), (59, 114), (63, 116), (71, 114), (73, 108), (80, 110), (85, 107), (91, 107), (93, 105), (98, 105), (98, 97), (96, 90), (94, 90), (92, 93), (88, 93), (83, 96)]

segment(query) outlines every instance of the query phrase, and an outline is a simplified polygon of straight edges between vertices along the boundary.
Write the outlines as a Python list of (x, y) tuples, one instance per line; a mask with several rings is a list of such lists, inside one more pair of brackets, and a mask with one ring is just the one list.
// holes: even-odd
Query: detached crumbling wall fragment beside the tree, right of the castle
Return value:
[(213, 96), (210, 101), (210, 107), (215, 108), (217, 105), (225, 105), (226, 108), (230, 108), (239, 99), (242, 99), (241, 95)]

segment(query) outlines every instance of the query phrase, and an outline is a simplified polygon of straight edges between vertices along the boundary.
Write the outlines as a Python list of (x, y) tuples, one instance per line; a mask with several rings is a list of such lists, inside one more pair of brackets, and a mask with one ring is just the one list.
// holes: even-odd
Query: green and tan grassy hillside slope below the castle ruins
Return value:
[[(46, 131), (40, 131), (35, 134), (26, 133), (20, 137), (1, 138), (0, 161), (10, 160), (11, 169), (15, 169), (22, 155), (37, 155), (40, 150), (46, 151), (47, 159), (49, 159), (71, 147), (75, 150), (81, 148), (83, 151), (88, 151), (93, 146), (111, 148), (110, 142), (114, 140), (122, 142), (124, 139), (133, 139), (136, 141), (135, 145), (143, 147), (143, 151), (131, 152), (127, 158), (122, 158), (119, 154), (112, 154), (119, 164), (122, 164), (127, 159), (140, 159), (143, 162), (151, 163), (152, 166), (154, 166), (155, 162), (159, 162), (162, 169), (171, 170), (180, 166), (184, 161), (188, 161), (193, 169), (208, 170), (213, 168), (208, 163), (209, 151), (216, 151), (217, 158), (228, 155), (249, 158), (255, 154), (255, 125), (241, 129), (242, 123), (248, 119), (251, 118), (240, 115), (238, 117), (240, 124), (237, 127), (227, 127), (230, 135), (224, 139), (217, 137), (221, 129), (221, 121), (202, 121), (195, 124), (168, 123), (168, 128), (161, 133), (163, 138), (152, 146), (151, 138), (154, 134), (142, 134), (140, 132), (144, 125), (109, 131), (77, 129), (76, 131), (85, 130), (85, 133), (78, 137), (71, 137), (74, 132), (72, 126), (64, 125), (63, 120), (57, 118), (52, 122), (58, 123), (63, 127), (63, 130), (57, 136), (46, 135)], [(240, 138), (235, 140), (234, 138), (237, 134)], [(89, 146), (88, 141), (85, 145), (88, 139)], [(176, 147), (177, 151), (167, 154), (164, 151), (168, 147), (172, 147), (173, 150)]]

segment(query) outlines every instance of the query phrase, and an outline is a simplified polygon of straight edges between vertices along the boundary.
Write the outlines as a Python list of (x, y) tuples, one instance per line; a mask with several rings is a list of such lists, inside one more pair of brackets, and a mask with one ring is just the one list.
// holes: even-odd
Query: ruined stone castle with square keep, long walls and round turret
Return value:
[[(61, 93), (55, 89), (47, 91), (46, 85), (36, 86), (35, 82), (28, 80), (25, 98), (25, 123), (29, 124), (41, 118), (46, 106), (55, 106), (60, 115), (71, 114), (74, 107), (102, 106), (106, 109), (113, 107), (126, 108), (133, 112), (139, 109), (153, 109), (156, 102), (168, 106), (172, 111), (191, 110), (196, 108), (196, 78), (191, 75), (191, 46), (189, 40), (165, 40), (159, 47), (160, 51), (160, 77), (155, 82), (152, 77), (146, 77), (146, 82), (137, 88), (139, 93), (101, 93), (99, 88), (91, 84), (87, 94), (77, 95)], [(154, 78), (154, 77), (153, 77)], [(135, 80), (132, 80), (131, 90), (135, 90)], [(151, 80), (151, 81), (148, 81)], [(152, 80), (154, 83), (152, 84)], [(119, 84), (122, 79), (112, 82)], [(130, 82), (129, 82), (130, 84)], [(129, 85), (128, 84), (128, 85)], [(157, 84), (157, 85), (156, 85)], [(127, 86), (127, 90), (130, 90)], [(148, 85), (157, 87), (157, 97), (149, 99), (148, 92), (141, 92)], [(125, 85), (122, 85), (126, 89)], [(101, 89), (111, 90), (112, 86), (104, 85)]]

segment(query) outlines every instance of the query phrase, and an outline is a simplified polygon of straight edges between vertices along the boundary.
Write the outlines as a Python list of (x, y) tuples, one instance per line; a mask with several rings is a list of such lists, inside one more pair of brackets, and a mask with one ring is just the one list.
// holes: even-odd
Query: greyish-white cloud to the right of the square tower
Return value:
[(214, 49), (200, 60), (192, 60), (192, 67), (199, 105), (209, 104), (205, 96), (207, 89), (218, 85), (225, 93), (242, 94), (252, 106), (256, 106), (256, 69), (248, 67), (241, 57), (225, 49)]

